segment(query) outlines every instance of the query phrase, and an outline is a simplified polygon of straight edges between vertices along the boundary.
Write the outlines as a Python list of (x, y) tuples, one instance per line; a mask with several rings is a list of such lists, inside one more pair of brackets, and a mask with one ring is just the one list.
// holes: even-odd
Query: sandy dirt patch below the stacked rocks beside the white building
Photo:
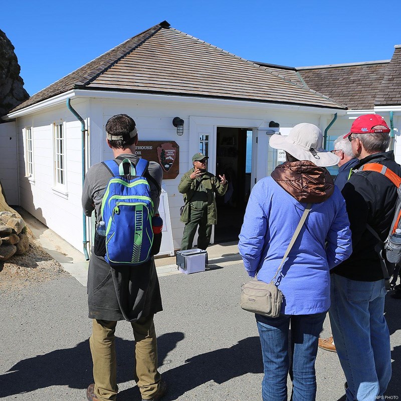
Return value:
[(28, 251), (0, 263), (0, 294), (69, 276), (61, 265), (42, 249), (28, 226), (27, 234)]

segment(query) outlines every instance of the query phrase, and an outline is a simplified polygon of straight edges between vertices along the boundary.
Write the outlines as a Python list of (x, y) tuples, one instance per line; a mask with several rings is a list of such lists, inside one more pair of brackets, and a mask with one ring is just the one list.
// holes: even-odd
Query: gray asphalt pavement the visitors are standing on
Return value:
[[(240, 285), (248, 278), (238, 258), (228, 256), (222, 254), (202, 273), (159, 277), (164, 310), (155, 315), (155, 326), (160, 372), (168, 383), (164, 401), (261, 399), (263, 364), (255, 318), (238, 306)], [(401, 396), (400, 306), (400, 300), (387, 297), (393, 377), (386, 394), (391, 399)], [(93, 382), (86, 287), (70, 277), (9, 292), (2, 295), (0, 314), (0, 398), (85, 400)], [(328, 334), (326, 320), (322, 336)], [(139, 400), (129, 323), (119, 322), (116, 336), (117, 399)], [(336, 353), (319, 349), (316, 376), (317, 400), (344, 399)]]

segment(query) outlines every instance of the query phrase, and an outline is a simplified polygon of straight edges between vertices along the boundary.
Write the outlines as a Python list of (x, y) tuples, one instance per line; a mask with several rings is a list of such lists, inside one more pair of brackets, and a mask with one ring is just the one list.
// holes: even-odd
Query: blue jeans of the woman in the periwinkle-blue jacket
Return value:
[(316, 398), (315, 360), (319, 334), (326, 312), (313, 315), (283, 315), (272, 318), (255, 315), (262, 345), (265, 376), (263, 401), (286, 401), (287, 375), (290, 370), (288, 332), (291, 322), (293, 401)]

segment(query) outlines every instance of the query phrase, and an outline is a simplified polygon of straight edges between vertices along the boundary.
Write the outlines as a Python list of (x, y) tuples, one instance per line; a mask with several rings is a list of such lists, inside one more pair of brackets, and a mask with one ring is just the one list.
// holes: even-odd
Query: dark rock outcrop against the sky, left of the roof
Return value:
[(0, 122), (2, 116), (29, 98), (20, 71), (14, 46), (0, 30)]

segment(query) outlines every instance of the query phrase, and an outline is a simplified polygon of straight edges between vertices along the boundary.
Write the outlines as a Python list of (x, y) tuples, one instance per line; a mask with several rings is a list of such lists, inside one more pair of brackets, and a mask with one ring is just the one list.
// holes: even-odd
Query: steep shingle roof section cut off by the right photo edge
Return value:
[(384, 79), (374, 101), (376, 106), (401, 104), (401, 45), (394, 46), (394, 53), (385, 70)]

